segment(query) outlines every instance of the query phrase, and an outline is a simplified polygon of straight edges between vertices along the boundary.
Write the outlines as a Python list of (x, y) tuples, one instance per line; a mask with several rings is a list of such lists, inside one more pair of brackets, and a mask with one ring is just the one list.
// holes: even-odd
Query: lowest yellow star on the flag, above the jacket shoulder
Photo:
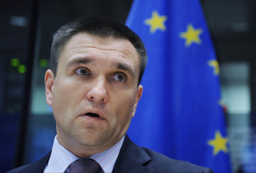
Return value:
[(224, 153), (228, 152), (227, 149), (227, 138), (224, 138), (219, 131), (215, 131), (215, 138), (212, 140), (208, 140), (208, 145), (214, 148), (213, 155), (217, 155), (220, 151)]

